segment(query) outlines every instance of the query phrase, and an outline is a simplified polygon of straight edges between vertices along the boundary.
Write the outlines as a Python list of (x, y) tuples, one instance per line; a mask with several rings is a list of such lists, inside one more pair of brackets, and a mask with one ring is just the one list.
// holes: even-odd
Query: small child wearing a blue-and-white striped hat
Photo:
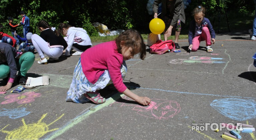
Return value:
[(20, 44), (20, 48), (18, 49), (19, 52), (35, 52), (35, 47), (32, 44), (31, 36), (33, 35), (31, 32), (27, 33), (26, 38), (21, 38), (17, 33), (14, 34), (19, 40), (23, 41)]

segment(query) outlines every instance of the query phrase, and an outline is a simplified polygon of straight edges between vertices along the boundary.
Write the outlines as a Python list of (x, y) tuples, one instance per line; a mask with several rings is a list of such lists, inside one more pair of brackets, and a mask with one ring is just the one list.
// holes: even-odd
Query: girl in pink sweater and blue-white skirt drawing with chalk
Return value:
[(125, 30), (114, 41), (87, 49), (76, 64), (66, 101), (85, 103), (91, 100), (102, 104), (106, 99), (98, 91), (113, 83), (117, 91), (142, 105), (148, 105), (148, 97), (136, 95), (123, 84), (127, 71), (125, 61), (135, 54), (139, 54), (141, 59), (146, 57), (146, 45), (134, 29)]

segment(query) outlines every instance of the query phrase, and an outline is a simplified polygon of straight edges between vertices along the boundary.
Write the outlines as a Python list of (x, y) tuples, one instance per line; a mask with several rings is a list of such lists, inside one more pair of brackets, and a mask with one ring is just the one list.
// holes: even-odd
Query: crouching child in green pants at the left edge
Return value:
[(32, 52), (27, 52), (17, 57), (16, 49), (7, 43), (0, 43), (0, 79), (4, 79), (7, 84), (0, 87), (0, 92), (11, 89), (16, 73), (17, 80), (21, 85), (26, 84), (27, 71), (31, 68), (35, 60)]

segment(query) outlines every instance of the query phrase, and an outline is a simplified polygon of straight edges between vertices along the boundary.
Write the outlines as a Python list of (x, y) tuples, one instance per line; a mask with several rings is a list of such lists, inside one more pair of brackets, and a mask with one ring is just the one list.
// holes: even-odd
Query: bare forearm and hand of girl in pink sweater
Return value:
[(142, 105), (149, 105), (150, 99), (148, 97), (140, 97), (137, 94), (133, 93), (130, 91), (128, 88), (123, 91), (123, 94), (126, 95), (127, 97), (135, 100), (136, 102), (142, 104)]

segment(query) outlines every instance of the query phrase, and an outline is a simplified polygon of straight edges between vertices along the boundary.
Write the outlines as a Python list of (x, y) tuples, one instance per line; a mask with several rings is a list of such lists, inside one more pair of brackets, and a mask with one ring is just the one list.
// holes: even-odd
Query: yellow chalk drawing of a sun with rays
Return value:
[(62, 114), (59, 118), (57, 118), (52, 123), (47, 125), (46, 123), (42, 122), (42, 119), (45, 118), (46, 115), (47, 113), (43, 114), (41, 119), (34, 124), (27, 125), (25, 123), (25, 120), (22, 119), (23, 126), (19, 128), (15, 128), (13, 131), (4, 130), (8, 126), (6, 125), (4, 128), (2, 128), (1, 132), (7, 133), (7, 136), (5, 137), (6, 140), (38, 140), (46, 133), (58, 130), (59, 128), (54, 128), (52, 130), (49, 130), (48, 126), (52, 125), (53, 123), (55, 123), (56, 121), (61, 119), (61, 117), (64, 116), (64, 114)]

